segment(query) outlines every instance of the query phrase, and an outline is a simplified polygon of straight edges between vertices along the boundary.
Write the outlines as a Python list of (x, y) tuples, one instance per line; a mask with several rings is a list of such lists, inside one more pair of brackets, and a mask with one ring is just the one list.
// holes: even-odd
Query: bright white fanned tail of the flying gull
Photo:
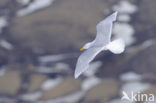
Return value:
[(110, 42), (106, 48), (114, 54), (120, 54), (125, 50), (125, 42), (123, 39), (116, 39)]

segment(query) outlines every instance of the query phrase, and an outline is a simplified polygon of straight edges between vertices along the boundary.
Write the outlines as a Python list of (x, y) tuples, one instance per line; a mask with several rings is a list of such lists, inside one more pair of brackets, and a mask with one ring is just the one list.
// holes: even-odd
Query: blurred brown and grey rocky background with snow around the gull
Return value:
[[(125, 52), (100, 53), (74, 79), (79, 48), (114, 11), (112, 40), (123, 38)], [(135, 103), (122, 92), (156, 95), (155, 28), (155, 0), (0, 0), (0, 103)]]

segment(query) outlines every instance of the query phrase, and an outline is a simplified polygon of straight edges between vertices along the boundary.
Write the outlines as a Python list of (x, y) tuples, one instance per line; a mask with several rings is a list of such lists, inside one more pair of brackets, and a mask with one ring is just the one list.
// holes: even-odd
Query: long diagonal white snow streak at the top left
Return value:
[(25, 16), (36, 10), (50, 6), (54, 0), (34, 0), (28, 7), (17, 12), (17, 16)]

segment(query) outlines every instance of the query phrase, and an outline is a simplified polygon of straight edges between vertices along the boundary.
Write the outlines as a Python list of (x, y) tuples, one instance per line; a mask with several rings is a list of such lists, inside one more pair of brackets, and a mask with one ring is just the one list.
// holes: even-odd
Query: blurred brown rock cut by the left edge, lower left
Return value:
[(21, 86), (20, 73), (7, 71), (0, 76), (0, 94), (15, 95)]

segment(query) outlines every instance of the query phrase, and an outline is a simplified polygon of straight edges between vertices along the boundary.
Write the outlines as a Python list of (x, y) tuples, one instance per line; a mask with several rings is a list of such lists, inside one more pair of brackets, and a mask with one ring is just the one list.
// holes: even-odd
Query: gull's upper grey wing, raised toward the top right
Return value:
[(113, 21), (116, 20), (117, 12), (108, 16), (97, 24), (97, 35), (94, 40), (95, 45), (107, 45), (110, 42)]

